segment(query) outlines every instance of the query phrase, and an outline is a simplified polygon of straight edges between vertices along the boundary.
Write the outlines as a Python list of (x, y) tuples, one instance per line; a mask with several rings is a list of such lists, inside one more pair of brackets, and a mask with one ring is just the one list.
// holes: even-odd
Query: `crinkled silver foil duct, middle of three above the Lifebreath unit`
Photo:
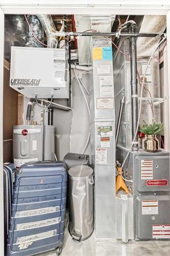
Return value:
[(44, 32), (39, 18), (36, 15), (27, 15), (27, 19), (30, 25), (27, 27), (26, 47), (43, 47), (40, 41)]

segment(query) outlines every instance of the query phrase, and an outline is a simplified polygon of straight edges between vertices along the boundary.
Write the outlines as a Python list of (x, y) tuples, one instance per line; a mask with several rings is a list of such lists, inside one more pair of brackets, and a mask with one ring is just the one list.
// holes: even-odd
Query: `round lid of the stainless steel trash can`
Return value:
[(70, 179), (87, 180), (92, 177), (93, 169), (87, 165), (76, 165), (68, 170)]

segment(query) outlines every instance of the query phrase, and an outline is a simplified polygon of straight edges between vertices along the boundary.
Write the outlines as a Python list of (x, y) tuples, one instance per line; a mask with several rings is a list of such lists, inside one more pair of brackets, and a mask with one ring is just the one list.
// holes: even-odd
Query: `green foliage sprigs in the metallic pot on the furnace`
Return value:
[(139, 132), (145, 135), (156, 135), (163, 133), (163, 123), (143, 124), (139, 126)]

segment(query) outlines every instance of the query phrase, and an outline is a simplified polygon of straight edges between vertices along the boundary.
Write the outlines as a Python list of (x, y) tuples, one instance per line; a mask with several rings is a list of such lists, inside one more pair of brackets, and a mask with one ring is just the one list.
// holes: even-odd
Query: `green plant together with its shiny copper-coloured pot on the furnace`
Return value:
[(159, 140), (157, 134), (163, 133), (163, 123), (143, 124), (139, 126), (139, 132), (143, 133), (142, 148), (147, 152), (156, 152), (159, 150)]

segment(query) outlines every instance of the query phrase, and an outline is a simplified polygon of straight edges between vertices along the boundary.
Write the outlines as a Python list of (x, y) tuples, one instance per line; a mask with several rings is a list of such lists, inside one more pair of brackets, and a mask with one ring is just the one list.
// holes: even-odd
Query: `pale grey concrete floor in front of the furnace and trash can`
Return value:
[[(55, 251), (39, 256), (56, 256)], [(72, 241), (68, 230), (65, 230), (64, 245), (61, 256), (169, 256), (170, 242), (133, 242), (121, 241), (95, 242), (94, 233), (81, 243)]]

